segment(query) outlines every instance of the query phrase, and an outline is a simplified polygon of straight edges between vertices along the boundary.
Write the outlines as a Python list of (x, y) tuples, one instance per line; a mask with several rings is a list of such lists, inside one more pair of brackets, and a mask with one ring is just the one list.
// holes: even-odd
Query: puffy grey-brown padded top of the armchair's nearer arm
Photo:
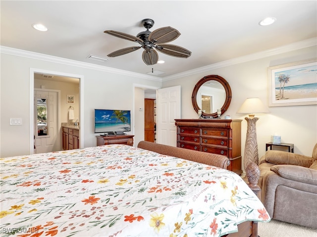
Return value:
[(317, 185), (317, 170), (298, 165), (278, 164), (271, 170), (279, 176), (306, 184)]

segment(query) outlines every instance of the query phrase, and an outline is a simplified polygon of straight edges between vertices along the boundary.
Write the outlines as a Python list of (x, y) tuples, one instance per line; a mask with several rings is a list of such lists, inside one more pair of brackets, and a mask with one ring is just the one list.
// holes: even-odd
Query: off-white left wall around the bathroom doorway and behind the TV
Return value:
[[(52, 62), (53, 61), (53, 62)], [(0, 62), (0, 157), (29, 154), (30, 144), (30, 69), (41, 69), (84, 77), (84, 147), (96, 146), (94, 109), (120, 109), (133, 111), (133, 83), (161, 87), (155, 77), (146, 77), (122, 71), (103, 70), (75, 62), (50, 58), (38, 59), (5, 53)], [(77, 66), (78, 64), (78, 66)], [(75, 65), (75, 66), (74, 66)], [(132, 115), (133, 116), (133, 115)], [(9, 125), (9, 118), (22, 118), (22, 125)], [(132, 121), (134, 122), (134, 121)], [(136, 128), (137, 129), (137, 128)], [(128, 132), (134, 134), (134, 131)]]

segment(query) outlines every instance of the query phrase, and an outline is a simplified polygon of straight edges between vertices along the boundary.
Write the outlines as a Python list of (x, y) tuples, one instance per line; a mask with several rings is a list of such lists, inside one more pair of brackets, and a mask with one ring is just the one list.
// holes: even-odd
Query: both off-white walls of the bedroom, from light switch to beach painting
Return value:
[[(30, 143), (30, 111), (29, 87), (30, 68), (83, 75), (84, 80), (84, 146), (96, 145), (94, 133), (94, 109), (134, 109), (134, 84), (152, 87), (169, 87), (181, 85), (182, 118), (197, 118), (193, 109), (191, 96), (195, 84), (207, 75), (219, 75), (226, 79), (232, 90), (232, 100), (227, 115), (240, 118), (242, 121), (242, 155), (244, 152), (247, 123), (244, 115), (237, 110), (247, 97), (260, 97), (264, 104), (267, 100), (267, 68), (301, 60), (317, 58), (317, 47), (267, 56), (226, 67), (219, 67), (190, 76), (160, 82), (153, 77), (122, 72), (117, 74), (100, 67), (65, 64), (41, 60), (1, 51), (0, 72), (0, 156), (18, 156), (29, 154)], [(196, 70), (199, 71), (199, 70)], [(281, 135), (282, 142), (294, 143), (295, 152), (311, 156), (317, 142), (317, 106), (270, 107), (269, 114), (257, 115), (259, 156), (265, 151), (265, 143), (270, 141), (274, 133)], [(135, 112), (136, 113), (136, 112)], [(132, 115), (133, 116), (133, 115)], [(22, 118), (22, 125), (10, 126), (9, 118)], [(132, 117), (134, 118), (134, 117)], [(134, 123), (134, 121), (132, 121)], [(134, 130), (137, 130), (134, 127)], [(136, 131), (130, 134), (136, 134)], [(139, 131), (139, 130), (138, 130)], [(142, 131), (143, 132), (143, 131)], [(32, 131), (33, 133), (33, 131)], [(141, 138), (135, 137), (137, 141)], [(136, 143), (135, 143), (136, 144)]]

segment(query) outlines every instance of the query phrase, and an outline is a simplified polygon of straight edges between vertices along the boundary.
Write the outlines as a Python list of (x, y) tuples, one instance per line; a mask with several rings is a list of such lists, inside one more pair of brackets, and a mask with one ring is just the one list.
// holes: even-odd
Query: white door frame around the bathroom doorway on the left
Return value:
[[(29, 128), (29, 139), (30, 139), (30, 155), (34, 154), (34, 74), (50, 74), (60, 77), (69, 77), (69, 78), (78, 78), (79, 79), (79, 121), (80, 121), (80, 130), (79, 137), (80, 139), (80, 148), (84, 148), (84, 76), (77, 74), (69, 74), (63, 72), (48, 71), (44, 69), (30, 68), (30, 88), (29, 88), (29, 108), (30, 108), (30, 128)], [(60, 110), (60, 108), (58, 108)], [(60, 113), (59, 113), (60, 115)]]

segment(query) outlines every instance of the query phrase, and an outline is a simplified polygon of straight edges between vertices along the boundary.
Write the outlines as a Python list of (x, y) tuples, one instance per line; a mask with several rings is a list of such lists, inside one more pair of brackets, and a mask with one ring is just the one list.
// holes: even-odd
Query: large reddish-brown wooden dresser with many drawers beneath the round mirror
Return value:
[(228, 170), (242, 174), (241, 119), (175, 119), (177, 147), (220, 154)]

